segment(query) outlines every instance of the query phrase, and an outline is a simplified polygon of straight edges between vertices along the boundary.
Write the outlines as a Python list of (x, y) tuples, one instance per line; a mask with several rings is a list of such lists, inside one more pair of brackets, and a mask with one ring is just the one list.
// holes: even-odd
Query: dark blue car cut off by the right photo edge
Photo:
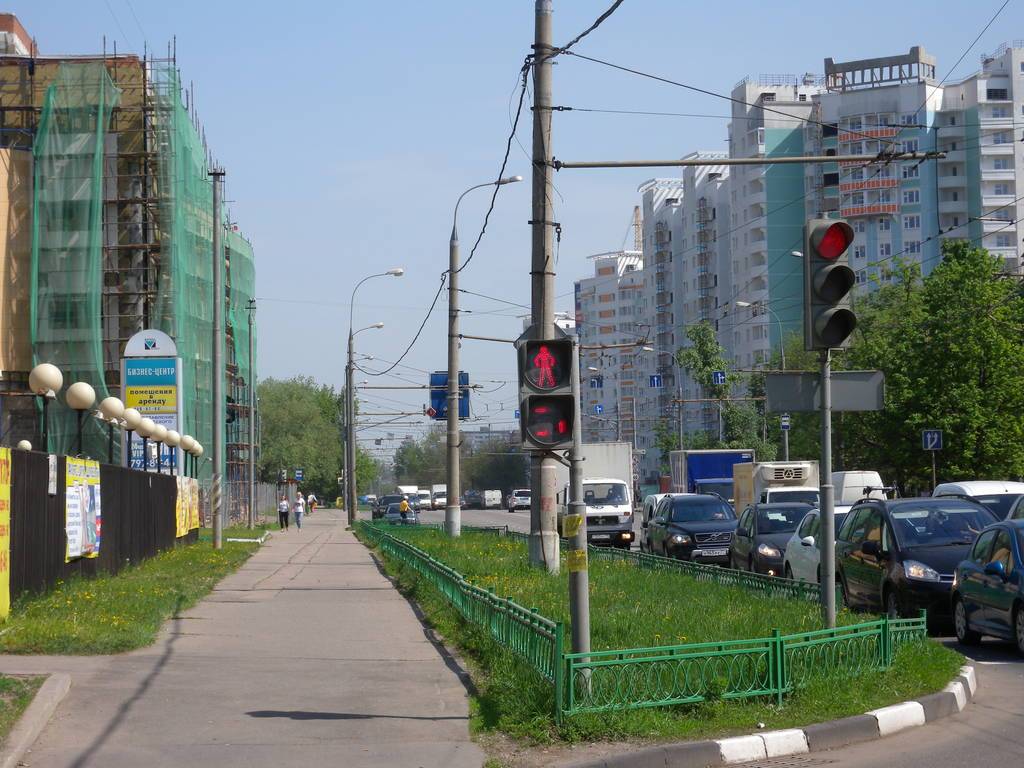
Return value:
[(1024, 654), (1024, 520), (1004, 520), (978, 535), (956, 566), (952, 608), (956, 639), (1012, 640)]

